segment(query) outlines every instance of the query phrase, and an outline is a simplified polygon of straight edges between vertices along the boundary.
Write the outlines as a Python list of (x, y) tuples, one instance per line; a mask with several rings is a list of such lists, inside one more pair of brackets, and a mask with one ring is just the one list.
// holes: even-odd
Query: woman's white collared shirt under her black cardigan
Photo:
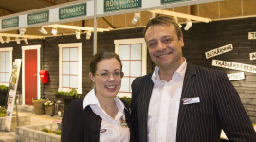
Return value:
[(83, 99), (83, 109), (90, 105), (93, 112), (102, 118), (101, 129), (100, 129), (100, 142), (129, 142), (130, 141), (130, 131), (128, 126), (121, 126), (125, 124), (125, 113), (124, 104), (121, 100), (116, 97), (114, 101), (119, 109), (118, 114), (115, 119), (101, 108), (98, 99), (95, 96), (95, 91), (92, 89)]

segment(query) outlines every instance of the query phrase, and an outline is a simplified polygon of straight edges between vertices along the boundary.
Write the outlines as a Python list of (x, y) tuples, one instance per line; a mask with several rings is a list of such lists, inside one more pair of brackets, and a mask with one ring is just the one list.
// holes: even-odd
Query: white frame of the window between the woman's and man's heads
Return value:
[[(142, 62), (141, 62), (141, 75), (144, 76), (147, 74), (147, 44), (144, 38), (135, 38), (135, 39), (122, 39), (122, 40), (114, 40), (115, 44), (115, 53), (119, 54), (119, 45), (120, 44), (142, 44)], [(130, 97), (131, 93), (120, 93), (118, 94), (119, 97)]]

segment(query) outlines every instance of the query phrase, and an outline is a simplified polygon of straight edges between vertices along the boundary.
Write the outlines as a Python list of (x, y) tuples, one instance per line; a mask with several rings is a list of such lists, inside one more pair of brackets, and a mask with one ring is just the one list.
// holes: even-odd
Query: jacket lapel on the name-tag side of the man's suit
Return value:
[(177, 120), (177, 137), (176, 139), (178, 140), (178, 136), (181, 136), (182, 134), (180, 133), (182, 127), (183, 127), (183, 121), (186, 116), (186, 111), (187, 111), (187, 106), (183, 105), (182, 99), (184, 98), (192, 98), (192, 88), (193, 88), (193, 83), (195, 80), (195, 67), (192, 66), (192, 64), (188, 63), (187, 69), (186, 69), (186, 74), (183, 82), (183, 89), (181, 93), (181, 99), (180, 99), (180, 105), (179, 105), (179, 115), (178, 115), (178, 120)]

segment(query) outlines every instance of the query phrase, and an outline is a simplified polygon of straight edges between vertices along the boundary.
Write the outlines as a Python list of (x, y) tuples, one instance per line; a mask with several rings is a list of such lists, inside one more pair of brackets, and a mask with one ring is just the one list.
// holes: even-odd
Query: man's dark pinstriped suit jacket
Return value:
[[(153, 89), (152, 73), (132, 83), (132, 139), (147, 141), (148, 107)], [(200, 102), (183, 105), (182, 99)], [(256, 142), (256, 133), (238, 93), (221, 71), (188, 63), (177, 120), (177, 142), (217, 142), (221, 129), (230, 141)]]

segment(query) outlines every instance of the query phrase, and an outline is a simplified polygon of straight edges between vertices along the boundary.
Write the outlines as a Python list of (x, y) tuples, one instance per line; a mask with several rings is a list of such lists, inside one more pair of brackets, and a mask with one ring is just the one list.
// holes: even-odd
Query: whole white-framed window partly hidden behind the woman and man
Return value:
[(131, 97), (133, 80), (146, 74), (147, 46), (143, 38), (115, 40), (114, 43), (124, 72), (119, 96)]

